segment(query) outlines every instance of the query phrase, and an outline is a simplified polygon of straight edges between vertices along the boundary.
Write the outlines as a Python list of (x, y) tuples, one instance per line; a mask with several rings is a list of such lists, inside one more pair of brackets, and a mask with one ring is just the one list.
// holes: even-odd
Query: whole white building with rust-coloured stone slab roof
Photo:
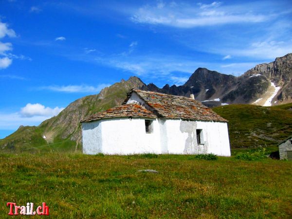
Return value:
[(81, 122), (85, 154), (230, 156), (227, 121), (183, 96), (133, 89), (122, 106)]

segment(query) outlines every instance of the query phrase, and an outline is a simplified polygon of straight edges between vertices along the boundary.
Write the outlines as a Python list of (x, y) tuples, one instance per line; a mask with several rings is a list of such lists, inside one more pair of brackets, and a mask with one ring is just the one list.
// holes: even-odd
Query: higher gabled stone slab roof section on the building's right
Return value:
[(136, 92), (153, 109), (157, 117), (228, 122), (201, 102), (184, 96), (132, 89), (123, 104), (127, 103), (132, 92)]

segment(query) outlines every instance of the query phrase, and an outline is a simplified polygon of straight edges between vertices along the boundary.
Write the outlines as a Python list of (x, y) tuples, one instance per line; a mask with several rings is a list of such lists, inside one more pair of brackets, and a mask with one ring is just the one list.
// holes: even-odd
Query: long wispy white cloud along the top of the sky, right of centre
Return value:
[(163, 7), (145, 5), (131, 16), (137, 23), (161, 24), (179, 28), (194, 28), (199, 26), (223, 25), (231, 23), (262, 22), (274, 15), (252, 13), (248, 7), (233, 8), (220, 7), (220, 2), (211, 4), (187, 5), (176, 7), (164, 4)]

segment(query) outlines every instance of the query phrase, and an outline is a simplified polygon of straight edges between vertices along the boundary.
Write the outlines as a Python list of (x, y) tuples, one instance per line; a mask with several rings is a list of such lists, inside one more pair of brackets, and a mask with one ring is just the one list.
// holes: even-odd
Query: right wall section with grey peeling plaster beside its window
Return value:
[[(231, 155), (227, 123), (168, 119), (164, 126), (168, 153)], [(197, 143), (196, 129), (202, 129), (204, 144)]]

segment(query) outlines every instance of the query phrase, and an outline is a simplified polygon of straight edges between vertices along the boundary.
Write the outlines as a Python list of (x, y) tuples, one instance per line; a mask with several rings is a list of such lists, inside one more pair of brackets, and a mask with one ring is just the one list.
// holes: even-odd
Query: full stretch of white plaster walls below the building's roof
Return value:
[[(230, 156), (227, 123), (152, 120), (152, 133), (145, 131), (146, 118), (112, 118), (83, 123), (85, 154), (201, 154)], [(204, 144), (197, 143), (196, 129), (202, 129)]]

